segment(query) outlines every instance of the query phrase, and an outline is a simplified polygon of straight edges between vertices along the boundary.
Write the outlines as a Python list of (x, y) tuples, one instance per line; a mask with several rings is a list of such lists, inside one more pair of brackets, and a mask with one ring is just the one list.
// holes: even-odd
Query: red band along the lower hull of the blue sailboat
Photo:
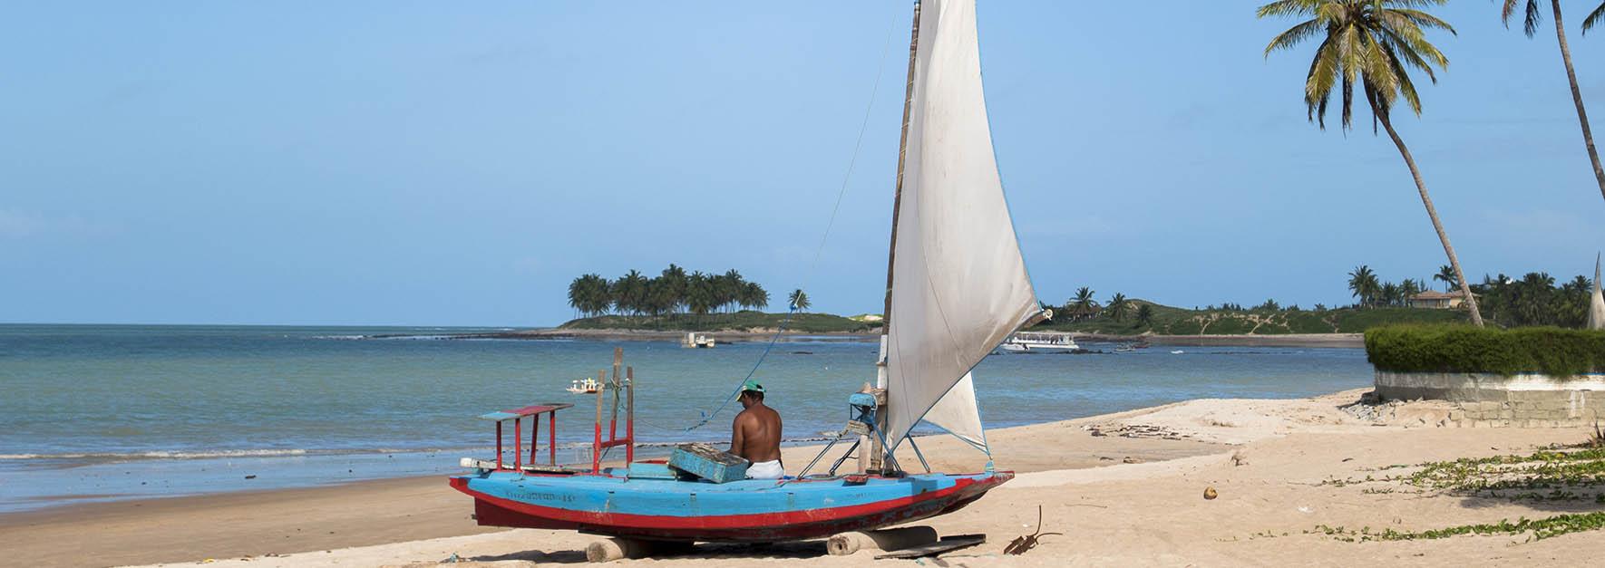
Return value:
[(493, 497), (469, 489), (467, 480), (453, 478), (451, 486), (473, 496), (473, 512), (480, 525), (575, 529), (608, 536), (703, 542), (778, 542), (825, 538), (844, 531), (891, 526), (963, 509), (1013, 475), (1002, 473), (987, 481), (957, 480), (952, 488), (878, 501), (862, 505), (793, 510), (758, 515), (632, 515), (541, 507)]

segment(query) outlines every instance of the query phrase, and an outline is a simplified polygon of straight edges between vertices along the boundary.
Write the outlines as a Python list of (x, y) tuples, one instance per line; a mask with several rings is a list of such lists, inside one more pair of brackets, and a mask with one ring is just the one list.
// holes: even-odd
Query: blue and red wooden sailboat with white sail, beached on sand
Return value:
[[(782, 480), (698, 473), (634, 456), (634, 372), (615, 355), (613, 380), (599, 372), (597, 419), (589, 469), (559, 467), (555, 449), (536, 460), (539, 417), (571, 404), (491, 412), (494, 462), (464, 459), (470, 473), (451, 486), (473, 496), (480, 525), (575, 529), (647, 541), (774, 542), (892, 526), (958, 510), (1011, 480), (995, 470), (971, 369), (998, 343), (1046, 311), (1026, 273), (992, 149), (974, 0), (915, 3), (902, 151), (892, 205), (886, 310), (875, 388), (849, 400), (838, 441), (852, 446), (823, 473), (807, 475), (835, 448)], [(603, 438), (603, 396), (613, 419)], [(628, 393), (624, 435), (618, 406)], [(528, 462), (523, 422), (530, 419)], [(514, 424), (512, 464), (504, 459), (504, 424)], [(977, 473), (905, 472), (897, 449), (924, 456), (910, 432), (931, 425), (981, 451)], [(549, 443), (555, 433), (549, 430)], [(608, 448), (624, 446), (623, 467), (602, 467)], [(855, 470), (838, 473), (857, 451)], [(679, 454), (677, 454), (679, 456)], [(984, 456), (984, 459), (982, 459)], [(684, 465), (684, 464), (681, 464)], [(743, 465), (745, 469), (745, 465)]]

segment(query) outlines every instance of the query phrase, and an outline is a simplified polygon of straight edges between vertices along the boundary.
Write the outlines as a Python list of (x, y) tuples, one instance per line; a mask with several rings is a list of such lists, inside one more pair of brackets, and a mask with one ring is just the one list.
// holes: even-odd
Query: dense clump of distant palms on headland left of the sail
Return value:
[[(799, 310), (807, 308), (807, 295), (802, 290), (794, 290), (791, 303)], [(701, 271), (685, 273), (685, 268), (669, 265), (653, 278), (636, 270), (613, 281), (602, 274), (575, 278), (568, 284), (568, 306), (583, 316), (607, 313), (632, 316), (706, 314), (735, 308), (762, 310), (769, 306), (769, 292), (758, 282), (748, 282), (735, 270), (724, 274), (706, 274)]]

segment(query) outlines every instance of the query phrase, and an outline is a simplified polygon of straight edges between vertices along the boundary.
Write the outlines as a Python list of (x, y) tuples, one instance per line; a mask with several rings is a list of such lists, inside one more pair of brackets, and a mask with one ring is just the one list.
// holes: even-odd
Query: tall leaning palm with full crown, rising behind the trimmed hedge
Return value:
[[(1401, 98), (1416, 116), (1420, 116), (1420, 96), (1416, 93), (1416, 83), (1409, 77), (1411, 67), (1438, 82), (1433, 66), (1449, 66), (1449, 58), (1427, 42), (1425, 30), (1441, 29), (1454, 34), (1454, 27), (1436, 16), (1416, 10), (1416, 6), (1425, 5), (1441, 6), (1446, 2), (1278, 0), (1260, 6), (1257, 14), (1258, 18), (1311, 18), (1271, 39), (1271, 43), (1265, 47), (1265, 56), (1270, 58), (1271, 51), (1290, 50), (1308, 39), (1324, 35), (1314, 51), (1310, 72), (1305, 77), (1303, 96), (1310, 119), (1319, 119), (1321, 128), (1326, 128), (1326, 108), (1335, 88), (1342, 95), (1342, 125), (1345, 130), (1350, 128), (1355, 87), (1359, 87), (1361, 95), (1364, 95), (1366, 103), (1371, 106), (1372, 132), (1375, 130), (1375, 124), (1382, 124), (1382, 128), (1388, 132), (1388, 138), (1393, 140), (1393, 146), (1398, 146), (1400, 156), (1404, 157), (1404, 165), (1409, 167), (1409, 173), (1416, 180), (1416, 191), (1420, 193), (1420, 202), (1427, 207), (1427, 217), (1432, 218), (1432, 226), (1438, 231), (1438, 241), (1443, 242), (1443, 252), (1449, 257), (1449, 266), (1454, 266), (1454, 274), (1461, 282), (1465, 282), (1465, 274), (1461, 271), (1461, 260), (1454, 255), (1454, 245), (1449, 244), (1449, 233), (1443, 229), (1443, 221), (1438, 220), (1438, 209), (1432, 205), (1432, 196), (1427, 194), (1427, 181), (1422, 180), (1420, 168), (1416, 167), (1416, 159), (1411, 157), (1404, 140), (1393, 130), (1392, 116), (1393, 104), (1400, 103)], [(1465, 303), (1472, 310), (1472, 323), (1481, 326), (1483, 316), (1477, 311), (1477, 298), (1472, 297), (1470, 289), (1464, 284), (1461, 289), (1465, 292)]]

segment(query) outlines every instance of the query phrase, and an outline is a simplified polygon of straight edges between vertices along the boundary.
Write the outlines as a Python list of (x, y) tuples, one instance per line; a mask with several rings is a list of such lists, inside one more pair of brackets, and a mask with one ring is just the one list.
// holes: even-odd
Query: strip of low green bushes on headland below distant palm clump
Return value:
[[(772, 331), (786, 319), (785, 313), (735, 311), (713, 314), (668, 316), (594, 316), (575, 319), (562, 329), (645, 329), (645, 331)], [(828, 313), (794, 313), (788, 331), (802, 334), (870, 334), (878, 332), (878, 323), (863, 323)]]

